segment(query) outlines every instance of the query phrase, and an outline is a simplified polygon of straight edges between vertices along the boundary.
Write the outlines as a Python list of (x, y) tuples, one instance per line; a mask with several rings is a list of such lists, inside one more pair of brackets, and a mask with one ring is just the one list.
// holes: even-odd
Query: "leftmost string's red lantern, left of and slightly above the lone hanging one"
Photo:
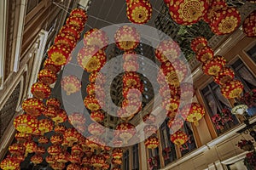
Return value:
[(56, 82), (56, 80), (57, 80), (57, 77), (55, 72), (53, 71), (43, 69), (38, 73), (38, 81), (43, 82), (44, 84), (50, 85)]

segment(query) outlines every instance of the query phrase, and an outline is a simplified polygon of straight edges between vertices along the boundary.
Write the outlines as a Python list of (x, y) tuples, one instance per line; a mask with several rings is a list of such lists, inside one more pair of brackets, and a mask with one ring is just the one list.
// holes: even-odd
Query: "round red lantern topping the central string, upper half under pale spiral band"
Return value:
[(138, 31), (133, 26), (121, 26), (114, 34), (114, 42), (124, 51), (137, 48), (140, 39)]

